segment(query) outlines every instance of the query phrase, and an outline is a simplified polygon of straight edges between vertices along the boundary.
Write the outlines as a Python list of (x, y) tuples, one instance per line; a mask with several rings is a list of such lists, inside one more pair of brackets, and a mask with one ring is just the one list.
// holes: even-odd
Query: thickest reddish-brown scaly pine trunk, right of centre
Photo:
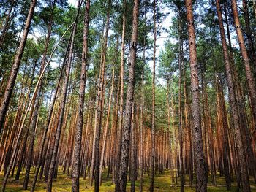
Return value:
[(189, 32), (189, 56), (192, 91), (192, 122), (195, 150), (196, 191), (207, 191), (206, 163), (203, 155), (203, 139), (200, 117), (200, 91), (198, 82), (197, 51), (195, 45), (195, 27), (192, 0), (186, 0), (187, 23)]

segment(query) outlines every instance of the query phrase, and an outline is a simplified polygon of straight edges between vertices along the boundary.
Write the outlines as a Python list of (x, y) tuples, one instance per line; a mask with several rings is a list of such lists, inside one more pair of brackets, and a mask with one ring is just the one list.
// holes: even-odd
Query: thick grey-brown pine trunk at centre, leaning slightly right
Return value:
[(136, 63), (136, 50), (137, 50), (137, 39), (138, 39), (138, 9), (139, 1), (134, 1), (133, 7), (133, 20), (132, 20), (132, 39), (130, 48), (130, 62), (129, 62), (129, 77), (127, 87), (127, 101), (124, 115), (124, 130), (122, 132), (121, 142), (121, 164), (118, 174), (118, 190), (126, 191), (127, 187), (127, 169), (129, 161), (129, 139), (131, 131), (131, 120), (132, 120), (132, 103), (133, 103), (133, 92), (135, 85), (135, 63)]

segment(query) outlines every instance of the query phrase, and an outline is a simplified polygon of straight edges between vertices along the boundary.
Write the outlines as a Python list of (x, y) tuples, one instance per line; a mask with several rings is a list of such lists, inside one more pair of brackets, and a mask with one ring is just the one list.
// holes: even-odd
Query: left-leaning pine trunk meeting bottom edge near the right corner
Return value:
[(225, 39), (225, 30), (224, 30), (223, 21), (222, 21), (222, 12), (220, 9), (219, 0), (216, 0), (216, 4), (217, 4), (218, 19), (219, 19), (219, 30), (222, 37), (222, 50), (223, 50), (225, 69), (227, 74), (227, 84), (228, 84), (228, 91), (229, 91), (231, 115), (233, 118), (236, 144), (239, 150), (238, 159), (239, 159), (240, 170), (241, 170), (241, 184), (242, 184), (243, 191), (250, 191), (249, 176), (248, 176), (247, 166), (246, 166), (246, 156), (244, 153), (244, 146), (242, 144), (241, 131), (239, 127), (239, 117), (238, 117), (238, 109), (236, 104), (235, 85), (233, 82), (233, 77), (232, 77), (232, 72), (230, 67), (230, 59), (228, 56), (227, 43)]

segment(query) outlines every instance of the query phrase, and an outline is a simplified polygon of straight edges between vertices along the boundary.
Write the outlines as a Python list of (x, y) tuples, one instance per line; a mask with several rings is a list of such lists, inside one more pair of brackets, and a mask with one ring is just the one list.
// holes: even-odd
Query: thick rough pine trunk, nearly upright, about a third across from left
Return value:
[(86, 12), (84, 17), (84, 28), (83, 28), (83, 55), (82, 55), (82, 66), (80, 74), (80, 87), (79, 87), (79, 100), (78, 100), (78, 120), (75, 131), (75, 153), (73, 156), (73, 167), (72, 167), (72, 191), (79, 191), (79, 173), (80, 173), (80, 151), (81, 151), (81, 137), (83, 131), (83, 105), (84, 95), (86, 88), (86, 65), (87, 65), (87, 53), (88, 53), (88, 35), (89, 35), (89, 11), (90, 11), (90, 0), (86, 1)]

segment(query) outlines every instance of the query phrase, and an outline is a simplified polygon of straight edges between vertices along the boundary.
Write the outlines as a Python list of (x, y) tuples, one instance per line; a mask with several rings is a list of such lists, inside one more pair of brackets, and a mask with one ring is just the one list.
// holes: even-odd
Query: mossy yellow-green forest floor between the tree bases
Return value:
[[(25, 172), (24, 172), (25, 173)], [(31, 177), (29, 181), (29, 187), (33, 180), (33, 170), (31, 172)], [(106, 174), (104, 173), (102, 180), (102, 186), (100, 186), (99, 191), (114, 191), (115, 185), (111, 182), (111, 177), (109, 179), (106, 178)], [(23, 190), (23, 177), (24, 174), (20, 175), (20, 180), (15, 181), (12, 177), (9, 178), (7, 183), (6, 191), (28, 191)], [(138, 178), (139, 179), (139, 178)], [(0, 174), (0, 182), (2, 183), (3, 174)], [(211, 178), (209, 178), (210, 182), (208, 183), (208, 191), (227, 191), (225, 188), (225, 177), (216, 178), (216, 186), (211, 184)], [(184, 191), (195, 191), (195, 188), (189, 187), (188, 177), (186, 176), (187, 185), (185, 185)], [(250, 178), (252, 191), (256, 191), (256, 184), (253, 183), (252, 178)], [(0, 186), (1, 186), (0, 183)], [(131, 183), (129, 180), (127, 181), (127, 191), (129, 191)], [(195, 183), (193, 184), (195, 186)], [(135, 191), (139, 191), (140, 181), (137, 180), (135, 183)], [(149, 176), (148, 174), (144, 174), (143, 176), (143, 191), (148, 191), (149, 188)], [(30, 189), (30, 188), (29, 188)], [(38, 180), (37, 188), (35, 191), (45, 191), (46, 183), (43, 180)], [(54, 191), (71, 191), (71, 178), (67, 177), (67, 174), (62, 174), (61, 170), (59, 170), (58, 178), (53, 180), (53, 192)], [(89, 179), (83, 180), (80, 177), (80, 191), (94, 191), (94, 187), (90, 186)], [(162, 174), (156, 174), (154, 178), (154, 191), (180, 191), (180, 188), (177, 185), (170, 185), (170, 171), (165, 171)], [(230, 191), (236, 191), (236, 182), (232, 183), (232, 187)]]

